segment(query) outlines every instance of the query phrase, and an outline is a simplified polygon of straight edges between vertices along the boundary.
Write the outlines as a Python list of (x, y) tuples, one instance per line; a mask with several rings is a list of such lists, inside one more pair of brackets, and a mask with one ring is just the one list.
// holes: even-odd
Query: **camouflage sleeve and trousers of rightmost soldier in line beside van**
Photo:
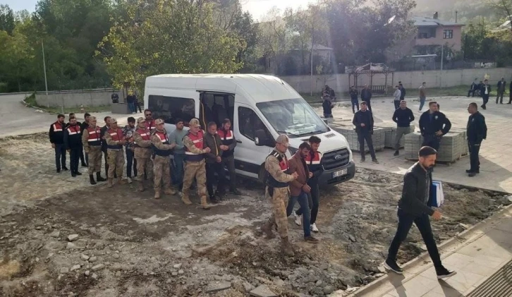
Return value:
[[(183, 138), (183, 145), (188, 148), (190, 152), (193, 152), (194, 154), (204, 154), (205, 150), (200, 150), (197, 147), (195, 147), (193, 141), (185, 135)], [(192, 186), (192, 183), (194, 181), (194, 178), (197, 181), (197, 195), (201, 198), (201, 205), (202, 207), (207, 210), (209, 209), (209, 206), (207, 205), (207, 198), (206, 198), (206, 166), (205, 166), (205, 160), (202, 159), (200, 162), (185, 162), (185, 174), (183, 176), (183, 202), (186, 205), (190, 205), (190, 198), (189, 198), (189, 192), (190, 192), (190, 186)]]

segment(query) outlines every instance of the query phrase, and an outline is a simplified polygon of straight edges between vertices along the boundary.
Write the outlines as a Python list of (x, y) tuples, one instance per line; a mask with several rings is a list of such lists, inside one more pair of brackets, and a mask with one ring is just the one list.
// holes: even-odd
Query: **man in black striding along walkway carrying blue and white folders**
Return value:
[(437, 220), (441, 219), (441, 212), (432, 210), (427, 205), (430, 197), (430, 186), (432, 186), (431, 169), (436, 162), (436, 154), (437, 151), (432, 147), (422, 147), (418, 156), (419, 161), (411, 166), (403, 176), (402, 197), (398, 201), (398, 228), (389, 246), (386, 262), (384, 262), (386, 269), (398, 274), (402, 274), (403, 269), (396, 264), (396, 255), (398, 255), (401, 243), (406, 240), (413, 223), (420, 230), (425, 246), (427, 246), (436, 269), (437, 278), (445, 279), (456, 274), (456, 272), (449, 271), (442, 265), (430, 226), (429, 216)]

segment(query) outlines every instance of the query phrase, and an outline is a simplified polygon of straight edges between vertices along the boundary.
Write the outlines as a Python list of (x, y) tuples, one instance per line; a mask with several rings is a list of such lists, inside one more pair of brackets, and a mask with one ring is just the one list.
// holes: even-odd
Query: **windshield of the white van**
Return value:
[(260, 102), (256, 104), (278, 133), (297, 138), (329, 131), (329, 127), (303, 98)]

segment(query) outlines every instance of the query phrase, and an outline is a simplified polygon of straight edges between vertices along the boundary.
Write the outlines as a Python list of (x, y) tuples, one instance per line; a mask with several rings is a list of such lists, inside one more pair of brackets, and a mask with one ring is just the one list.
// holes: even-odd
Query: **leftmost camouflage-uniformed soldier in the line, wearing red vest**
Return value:
[(93, 174), (96, 172), (97, 181), (106, 181), (102, 178), (102, 135), (101, 128), (97, 126), (96, 116), (90, 116), (89, 126), (82, 134), (82, 144), (89, 157), (89, 179), (92, 185), (96, 184)]

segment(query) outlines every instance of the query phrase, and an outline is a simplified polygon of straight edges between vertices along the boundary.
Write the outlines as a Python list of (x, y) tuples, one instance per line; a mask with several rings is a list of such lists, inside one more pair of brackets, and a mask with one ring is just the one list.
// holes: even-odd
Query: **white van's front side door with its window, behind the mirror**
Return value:
[(268, 146), (255, 145), (255, 131), (264, 130), (269, 137), (272, 135), (254, 109), (248, 104), (235, 102), (234, 111), (235, 168), (238, 174), (259, 178), (262, 164), (274, 149)]

